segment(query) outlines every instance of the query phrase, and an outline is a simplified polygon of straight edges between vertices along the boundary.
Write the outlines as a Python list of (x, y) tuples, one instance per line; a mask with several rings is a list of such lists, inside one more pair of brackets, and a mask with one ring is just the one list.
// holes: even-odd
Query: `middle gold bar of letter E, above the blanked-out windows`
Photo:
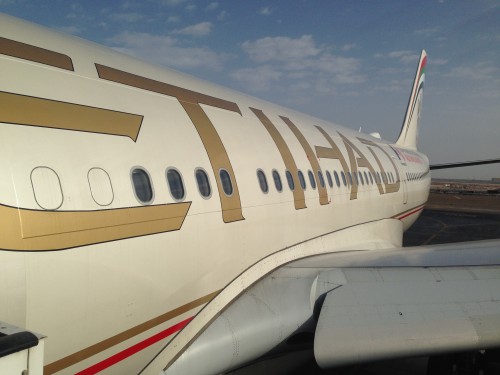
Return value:
[(139, 135), (143, 117), (109, 109), (0, 92), (0, 122), (129, 137)]

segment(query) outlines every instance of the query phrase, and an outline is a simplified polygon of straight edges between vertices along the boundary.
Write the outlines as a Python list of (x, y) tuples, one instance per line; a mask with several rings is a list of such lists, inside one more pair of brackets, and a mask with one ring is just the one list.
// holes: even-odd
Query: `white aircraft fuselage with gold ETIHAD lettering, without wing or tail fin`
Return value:
[(0, 319), (47, 335), (46, 374), (137, 373), (245, 270), (427, 200), (415, 149), (10, 17), (0, 37)]

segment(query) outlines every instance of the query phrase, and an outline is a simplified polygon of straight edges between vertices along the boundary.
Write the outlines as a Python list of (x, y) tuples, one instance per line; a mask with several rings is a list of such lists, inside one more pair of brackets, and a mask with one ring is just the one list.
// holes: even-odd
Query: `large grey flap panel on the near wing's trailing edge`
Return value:
[(339, 271), (316, 327), (321, 367), (500, 345), (498, 266)]

